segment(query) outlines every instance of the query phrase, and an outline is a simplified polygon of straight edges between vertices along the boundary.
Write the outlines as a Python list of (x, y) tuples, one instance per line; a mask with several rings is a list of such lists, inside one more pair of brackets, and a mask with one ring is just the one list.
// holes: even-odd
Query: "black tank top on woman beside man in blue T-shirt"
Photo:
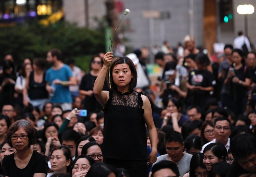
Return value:
[(28, 97), (32, 100), (48, 98), (48, 92), (46, 90), (45, 72), (43, 76), (43, 81), (41, 83), (35, 82), (34, 71), (30, 73), (28, 84)]

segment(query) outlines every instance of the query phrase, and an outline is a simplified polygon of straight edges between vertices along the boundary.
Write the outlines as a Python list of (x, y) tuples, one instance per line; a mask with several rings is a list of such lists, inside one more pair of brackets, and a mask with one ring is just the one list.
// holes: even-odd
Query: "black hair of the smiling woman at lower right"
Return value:
[(227, 151), (226, 147), (221, 143), (211, 143), (211, 144), (207, 145), (204, 148), (204, 153), (209, 150), (212, 151), (212, 153), (216, 157), (218, 157), (218, 159), (222, 158), (223, 160), (225, 160), (225, 158), (228, 157), (228, 151)]

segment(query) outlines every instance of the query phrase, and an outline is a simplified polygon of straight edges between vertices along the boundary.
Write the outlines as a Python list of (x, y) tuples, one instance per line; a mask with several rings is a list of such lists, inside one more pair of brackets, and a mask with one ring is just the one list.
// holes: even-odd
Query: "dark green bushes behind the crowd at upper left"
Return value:
[(88, 71), (91, 56), (104, 52), (104, 32), (79, 28), (67, 22), (58, 22), (50, 26), (37, 22), (27, 26), (0, 28), (0, 57), (11, 53), (15, 63), (25, 57), (31, 59), (46, 58), (47, 51), (58, 48), (63, 58), (76, 59), (77, 66)]

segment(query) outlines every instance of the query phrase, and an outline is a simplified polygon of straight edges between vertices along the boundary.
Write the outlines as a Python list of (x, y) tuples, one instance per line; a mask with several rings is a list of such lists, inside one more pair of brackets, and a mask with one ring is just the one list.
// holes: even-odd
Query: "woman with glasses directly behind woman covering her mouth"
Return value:
[(82, 148), (82, 155), (90, 156), (95, 162), (103, 162), (103, 154), (101, 147), (95, 141), (86, 143)]

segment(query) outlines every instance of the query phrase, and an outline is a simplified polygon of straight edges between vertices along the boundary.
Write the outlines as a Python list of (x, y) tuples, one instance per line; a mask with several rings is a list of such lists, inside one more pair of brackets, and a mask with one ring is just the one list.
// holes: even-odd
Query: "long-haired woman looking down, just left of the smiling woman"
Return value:
[(196, 152), (190, 160), (189, 172), (183, 177), (207, 177), (208, 171), (203, 163), (204, 154)]

